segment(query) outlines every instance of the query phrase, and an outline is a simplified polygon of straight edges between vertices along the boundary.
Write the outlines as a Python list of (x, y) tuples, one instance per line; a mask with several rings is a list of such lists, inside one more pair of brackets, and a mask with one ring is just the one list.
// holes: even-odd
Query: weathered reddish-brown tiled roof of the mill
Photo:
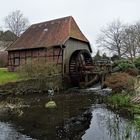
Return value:
[(71, 16), (31, 25), (7, 50), (63, 45), (70, 37), (89, 44)]

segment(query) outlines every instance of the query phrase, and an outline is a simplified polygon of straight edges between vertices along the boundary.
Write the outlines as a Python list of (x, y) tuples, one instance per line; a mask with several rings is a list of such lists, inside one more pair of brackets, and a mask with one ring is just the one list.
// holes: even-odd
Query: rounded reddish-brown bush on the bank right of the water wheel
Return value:
[(134, 78), (127, 73), (113, 73), (105, 80), (105, 85), (110, 87), (113, 92), (122, 92), (122, 90), (134, 91)]

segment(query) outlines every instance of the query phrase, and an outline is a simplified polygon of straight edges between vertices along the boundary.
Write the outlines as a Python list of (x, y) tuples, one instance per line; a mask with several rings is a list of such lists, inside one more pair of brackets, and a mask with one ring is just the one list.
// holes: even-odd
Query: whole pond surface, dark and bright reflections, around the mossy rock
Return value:
[(47, 95), (11, 100), (0, 109), (0, 140), (140, 140), (129, 117), (109, 110), (93, 93), (56, 95), (56, 108), (45, 108)]

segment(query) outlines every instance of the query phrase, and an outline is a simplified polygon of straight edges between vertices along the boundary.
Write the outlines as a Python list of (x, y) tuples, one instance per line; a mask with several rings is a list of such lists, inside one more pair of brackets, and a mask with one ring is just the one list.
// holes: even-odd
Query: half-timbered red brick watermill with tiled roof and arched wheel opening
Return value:
[(76, 84), (84, 75), (83, 65), (92, 63), (90, 43), (71, 16), (31, 25), (7, 51), (10, 71), (28, 60), (44, 58), (61, 65), (62, 75)]

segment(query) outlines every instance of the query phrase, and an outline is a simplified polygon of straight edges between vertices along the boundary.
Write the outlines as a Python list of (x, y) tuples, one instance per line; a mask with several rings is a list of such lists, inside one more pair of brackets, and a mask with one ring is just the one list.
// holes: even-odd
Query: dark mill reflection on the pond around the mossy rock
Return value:
[(96, 100), (92, 95), (58, 95), (52, 98), (57, 104), (57, 108), (52, 109), (44, 106), (50, 101), (47, 96), (19, 98), (24, 98), (30, 107), (20, 108), (23, 112), (20, 116), (10, 113), (12, 115), (0, 115), (0, 119), (5, 122), (10, 120), (17, 126), (17, 130), (18, 126), (23, 128), (19, 130), (23, 134), (41, 140), (81, 138), (90, 126), (92, 114), (89, 108)]

